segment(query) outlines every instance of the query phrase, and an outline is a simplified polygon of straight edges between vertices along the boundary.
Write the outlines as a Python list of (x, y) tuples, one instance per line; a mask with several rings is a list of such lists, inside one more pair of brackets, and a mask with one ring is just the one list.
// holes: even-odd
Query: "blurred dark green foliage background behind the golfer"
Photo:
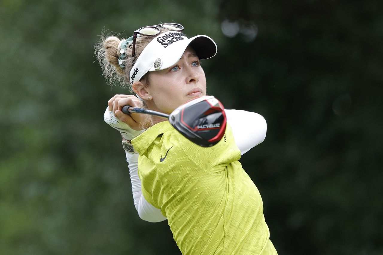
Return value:
[(279, 254), (383, 254), (382, 1), (0, 0), (0, 254), (180, 254), (139, 219), (103, 122), (102, 29), (207, 34), (208, 93), (255, 111), (241, 163)]

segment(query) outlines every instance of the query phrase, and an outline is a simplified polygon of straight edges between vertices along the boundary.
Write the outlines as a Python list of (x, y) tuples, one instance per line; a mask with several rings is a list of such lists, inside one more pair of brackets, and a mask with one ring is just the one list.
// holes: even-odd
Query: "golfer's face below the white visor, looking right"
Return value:
[(151, 72), (146, 88), (152, 100), (149, 109), (171, 113), (183, 103), (206, 95), (206, 77), (199, 59), (190, 46), (177, 64), (168, 69)]

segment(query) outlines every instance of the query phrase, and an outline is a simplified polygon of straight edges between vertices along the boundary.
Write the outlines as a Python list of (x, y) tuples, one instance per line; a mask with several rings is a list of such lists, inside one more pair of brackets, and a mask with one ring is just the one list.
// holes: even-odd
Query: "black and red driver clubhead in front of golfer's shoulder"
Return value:
[(226, 114), (214, 96), (201, 96), (184, 103), (169, 115), (170, 124), (202, 147), (217, 144), (226, 130)]

